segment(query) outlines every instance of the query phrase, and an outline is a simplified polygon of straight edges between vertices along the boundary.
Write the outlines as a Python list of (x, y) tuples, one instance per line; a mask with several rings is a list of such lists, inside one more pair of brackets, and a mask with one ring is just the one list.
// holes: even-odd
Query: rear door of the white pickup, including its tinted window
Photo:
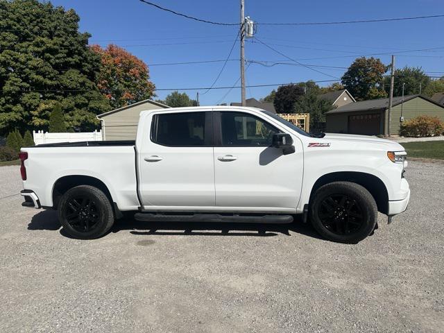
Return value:
[(155, 112), (139, 153), (145, 210), (214, 207), (212, 112)]

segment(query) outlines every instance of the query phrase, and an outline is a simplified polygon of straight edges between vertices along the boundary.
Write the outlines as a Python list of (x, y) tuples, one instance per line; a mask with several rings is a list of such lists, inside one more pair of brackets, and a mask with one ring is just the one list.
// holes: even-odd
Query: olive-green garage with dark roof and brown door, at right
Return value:
[(371, 99), (343, 105), (325, 113), (327, 132), (361, 135), (398, 135), (404, 121), (421, 116), (437, 116), (444, 121), (444, 105), (419, 94), (393, 97), (391, 123), (388, 124), (388, 99)]

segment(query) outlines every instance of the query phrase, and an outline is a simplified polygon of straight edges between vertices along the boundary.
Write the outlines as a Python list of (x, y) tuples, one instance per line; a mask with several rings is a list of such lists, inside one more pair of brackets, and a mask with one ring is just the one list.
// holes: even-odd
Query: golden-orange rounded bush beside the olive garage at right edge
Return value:
[(438, 117), (419, 116), (408, 121), (404, 121), (400, 129), (403, 137), (432, 137), (441, 135), (444, 124)]

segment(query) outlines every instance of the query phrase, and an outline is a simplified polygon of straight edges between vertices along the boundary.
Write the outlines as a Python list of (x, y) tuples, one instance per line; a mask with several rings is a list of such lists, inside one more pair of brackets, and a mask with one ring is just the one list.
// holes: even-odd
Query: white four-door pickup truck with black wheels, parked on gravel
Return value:
[(73, 237), (94, 239), (122, 212), (139, 221), (291, 223), (357, 243), (377, 212), (404, 212), (404, 148), (361, 135), (310, 135), (244, 107), (171, 108), (140, 114), (128, 142), (22, 148), (24, 203), (58, 210)]

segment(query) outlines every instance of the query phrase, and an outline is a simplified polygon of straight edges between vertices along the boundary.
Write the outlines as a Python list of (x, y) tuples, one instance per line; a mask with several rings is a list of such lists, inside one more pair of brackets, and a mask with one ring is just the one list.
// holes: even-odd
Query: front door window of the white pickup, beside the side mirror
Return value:
[(270, 146), (280, 131), (266, 121), (242, 112), (221, 112), (222, 146)]

